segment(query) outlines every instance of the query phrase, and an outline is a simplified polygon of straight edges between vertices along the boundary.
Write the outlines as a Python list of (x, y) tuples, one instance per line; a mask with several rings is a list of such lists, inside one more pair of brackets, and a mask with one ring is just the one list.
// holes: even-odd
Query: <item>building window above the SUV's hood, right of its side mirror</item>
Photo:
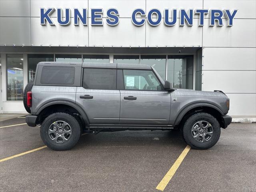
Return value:
[(168, 55), (167, 80), (174, 88), (193, 89), (193, 56)]

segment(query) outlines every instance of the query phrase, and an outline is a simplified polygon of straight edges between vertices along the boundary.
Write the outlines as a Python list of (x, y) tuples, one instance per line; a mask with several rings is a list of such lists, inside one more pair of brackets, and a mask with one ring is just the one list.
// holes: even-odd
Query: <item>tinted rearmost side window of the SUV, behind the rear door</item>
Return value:
[(44, 66), (42, 69), (41, 84), (74, 84), (74, 67)]

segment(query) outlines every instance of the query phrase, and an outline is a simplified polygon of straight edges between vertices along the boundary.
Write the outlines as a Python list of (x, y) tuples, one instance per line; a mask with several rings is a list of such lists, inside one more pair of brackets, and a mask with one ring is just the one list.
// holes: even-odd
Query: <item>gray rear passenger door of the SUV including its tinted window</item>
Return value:
[(118, 124), (120, 91), (116, 90), (116, 69), (84, 68), (76, 103), (84, 108), (90, 124)]

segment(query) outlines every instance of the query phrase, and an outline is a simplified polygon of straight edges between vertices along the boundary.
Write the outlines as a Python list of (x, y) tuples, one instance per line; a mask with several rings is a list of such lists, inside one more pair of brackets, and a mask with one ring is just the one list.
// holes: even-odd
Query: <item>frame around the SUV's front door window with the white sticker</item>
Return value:
[[(154, 72), (154, 70), (150, 70), (150, 69), (118, 69), (120, 70), (120, 74), (117, 76), (118, 80), (117, 80), (117, 83), (118, 83), (118, 88), (120, 88), (119, 90), (124, 90), (124, 91), (160, 91), (160, 92), (163, 92), (163, 91), (167, 91), (167, 90), (164, 90), (164, 86), (162, 84), (162, 82), (160, 81), (160, 79), (158, 78), (158, 76), (156, 75), (156, 73)], [(136, 71), (152, 71), (153, 74), (156, 76), (158, 82), (160, 82), (160, 86), (161, 86), (161, 90), (143, 90), (143, 89), (125, 89), (124, 88), (124, 70), (136, 70)]]

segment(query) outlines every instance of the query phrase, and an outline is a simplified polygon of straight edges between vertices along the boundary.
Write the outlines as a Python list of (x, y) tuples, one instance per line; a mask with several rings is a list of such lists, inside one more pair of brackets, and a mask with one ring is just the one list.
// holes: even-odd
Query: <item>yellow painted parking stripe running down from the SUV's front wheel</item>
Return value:
[(178, 159), (174, 162), (174, 164), (172, 165), (170, 170), (166, 173), (164, 178), (160, 181), (160, 183), (158, 184), (156, 189), (158, 189), (160, 191), (164, 190), (164, 188), (170, 182), (170, 180), (172, 179), (172, 176), (174, 176), (176, 170), (179, 168), (180, 164), (182, 163), (182, 161), (188, 154), (189, 150), (190, 150), (190, 146), (187, 145), (186, 148), (182, 151), (182, 153), (178, 157)]

